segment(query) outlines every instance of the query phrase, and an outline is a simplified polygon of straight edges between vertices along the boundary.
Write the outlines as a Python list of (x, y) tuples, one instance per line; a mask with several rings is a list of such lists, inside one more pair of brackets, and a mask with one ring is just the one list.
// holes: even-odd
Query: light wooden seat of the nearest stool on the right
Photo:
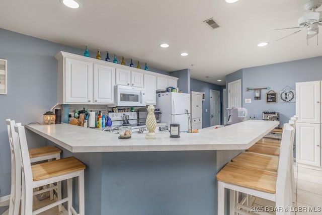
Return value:
[(268, 193), (275, 193), (277, 176), (265, 170), (243, 167), (229, 162), (216, 176), (218, 181)]

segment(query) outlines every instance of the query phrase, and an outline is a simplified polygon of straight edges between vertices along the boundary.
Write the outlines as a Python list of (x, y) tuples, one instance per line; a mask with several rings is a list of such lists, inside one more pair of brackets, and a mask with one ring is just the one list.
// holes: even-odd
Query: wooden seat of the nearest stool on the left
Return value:
[(70, 172), (84, 170), (86, 166), (74, 157), (63, 158), (31, 166), (33, 181), (39, 181)]

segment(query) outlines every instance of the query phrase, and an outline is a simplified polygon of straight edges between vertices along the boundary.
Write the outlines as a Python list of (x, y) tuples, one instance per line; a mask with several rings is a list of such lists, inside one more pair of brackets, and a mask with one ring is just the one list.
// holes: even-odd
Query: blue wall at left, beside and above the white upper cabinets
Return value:
[[(57, 60), (54, 56), (59, 51), (83, 55), (84, 50), (5, 29), (0, 29), (0, 47), (0, 58), (8, 60), (8, 95), (0, 95), (1, 197), (10, 194), (11, 184), (11, 158), (5, 119), (15, 119), (23, 124), (42, 122), (43, 114), (57, 103)], [(95, 56), (96, 53), (91, 53), (91, 57)], [(101, 56), (105, 59), (103, 53)], [(162, 70), (149, 70), (169, 75)], [(44, 139), (38, 135), (27, 135), (33, 140), (28, 142), (29, 148), (45, 145)]]

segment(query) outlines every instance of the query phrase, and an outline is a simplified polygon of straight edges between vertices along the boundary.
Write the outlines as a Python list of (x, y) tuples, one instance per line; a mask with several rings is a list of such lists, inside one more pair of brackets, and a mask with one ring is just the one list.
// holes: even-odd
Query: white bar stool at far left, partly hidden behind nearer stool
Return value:
[[(11, 194), (9, 202), (9, 214), (17, 215), (19, 213), (19, 206), (21, 200), (21, 158), (19, 148), (15, 149), (13, 139), (17, 136), (13, 136), (15, 121), (6, 119), (8, 137), (11, 151)], [(15, 154), (16, 152), (16, 154)], [(50, 161), (52, 159), (60, 159), (61, 150), (53, 147), (40, 147), (35, 149), (30, 149), (30, 162), (39, 162), (39, 161)], [(18, 155), (18, 156), (15, 156)], [(52, 184), (48, 189), (43, 189), (35, 191), (34, 195), (50, 191), (50, 199), (53, 199), (53, 189), (56, 190), (58, 200), (61, 199), (61, 183), (57, 183), (56, 186)], [(61, 211), (61, 205), (58, 206), (58, 210)]]

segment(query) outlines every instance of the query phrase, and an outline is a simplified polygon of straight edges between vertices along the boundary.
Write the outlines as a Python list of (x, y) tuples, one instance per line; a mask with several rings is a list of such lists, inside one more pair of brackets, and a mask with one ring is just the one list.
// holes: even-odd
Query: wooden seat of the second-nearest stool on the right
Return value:
[(273, 173), (277, 172), (278, 157), (270, 157), (250, 152), (243, 152), (232, 159), (236, 165), (266, 170)]

